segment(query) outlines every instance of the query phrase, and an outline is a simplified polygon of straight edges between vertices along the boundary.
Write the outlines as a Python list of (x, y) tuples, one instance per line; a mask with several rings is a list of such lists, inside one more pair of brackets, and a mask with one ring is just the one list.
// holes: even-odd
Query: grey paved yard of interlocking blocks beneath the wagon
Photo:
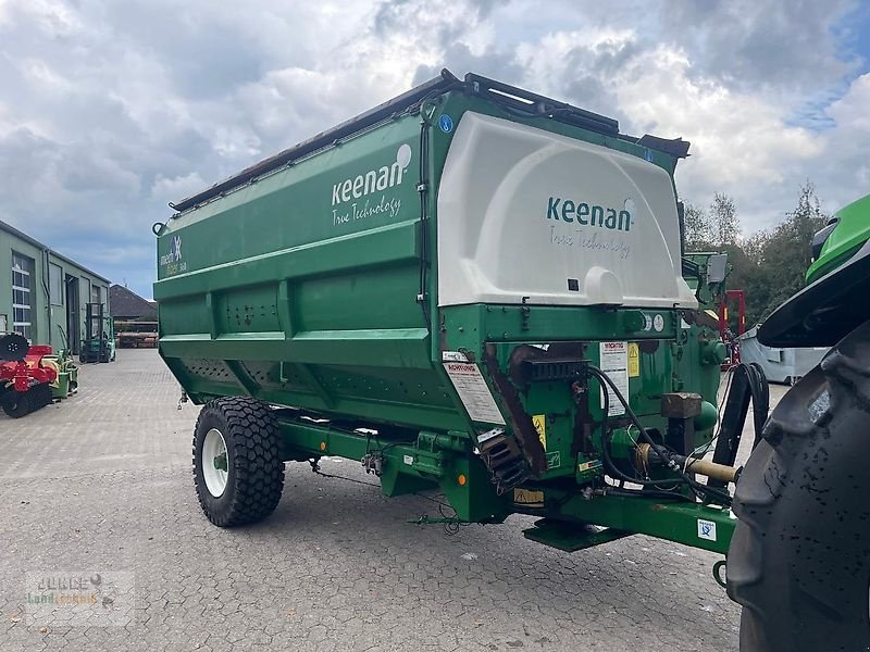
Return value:
[[(526, 517), (447, 536), (406, 523), (437, 515), (422, 498), (302, 464), (266, 522), (215, 528), (190, 476), (198, 409), (177, 398), (156, 351), (122, 350), (82, 369), (77, 397), (0, 413), (0, 650), (737, 647), (738, 609), (710, 576), (719, 557), (642, 536), (573, 555), (523, 539)], [(349, 461), (323, 469), (371, 479)], [(133, 577), (133, 624), (28, 617), (26, 574), (69, 572)]]

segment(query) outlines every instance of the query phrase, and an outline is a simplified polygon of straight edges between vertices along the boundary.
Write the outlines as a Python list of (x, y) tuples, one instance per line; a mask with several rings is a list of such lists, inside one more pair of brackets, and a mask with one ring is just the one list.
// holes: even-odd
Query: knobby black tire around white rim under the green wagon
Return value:
[[(212, 428), (221, 431), (227, 449), (226, 489), (219, 498), (202, 475), (202, 443)], [(247, 525), (272, 514), (284, 488), (284, 462), (270, 409), (248, 397), (206, 403), (194, 430), (194, 480), (202, 511), (219, 527)]]

